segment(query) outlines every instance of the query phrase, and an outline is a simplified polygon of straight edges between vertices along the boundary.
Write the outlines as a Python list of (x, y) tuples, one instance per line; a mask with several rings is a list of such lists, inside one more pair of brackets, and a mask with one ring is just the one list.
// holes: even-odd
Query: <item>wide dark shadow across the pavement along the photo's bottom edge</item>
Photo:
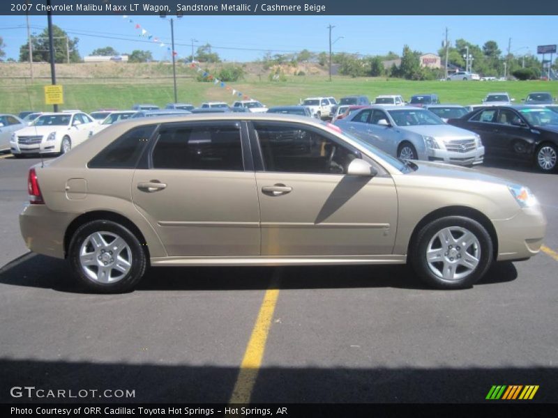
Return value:
[[(373, 354), (373, 350), (365, 351)], [(5, 358), (0, 359), (0, 370), (3, 372), (0, 384), (1, 403), (227, 403), (239, 373), (239, 369), (234, 366), (211, 364), (193, 366)], [(551, 403), (558, 400), (557, 373), (555, 366), (271, 366), (259, 369), (250, 401), (483, 403), (486, 402), (485, 397), (492, 385), (538, 385), (536, 396), (529, 403)], [(20, 389), (23, 387), (44, 389), (43, 397), (29, 398), (29, 393), (34, 392)], [(66, 398), (45, 397), (48, 389), (57, 393), (56, 389), (60, 388), (66, 389)], [(68, 399), (70, 389), (76, 398), (80, 390), (83, 391), (83, 397)], [(98, 392), (93, 394), (91, 389)], [(110, 392), (105, 392), (107, 389)], [(122, 397), (115, 397), (117, 390), (122, 392)], [(130, 394), (128, 398), (125, 397), (126, 391)], [(13, 397), (12, 394), (21, 396)], [(112, 397), (103, 398), (103, 394)], [(337, 416), (346, 415), (340, 413)]]

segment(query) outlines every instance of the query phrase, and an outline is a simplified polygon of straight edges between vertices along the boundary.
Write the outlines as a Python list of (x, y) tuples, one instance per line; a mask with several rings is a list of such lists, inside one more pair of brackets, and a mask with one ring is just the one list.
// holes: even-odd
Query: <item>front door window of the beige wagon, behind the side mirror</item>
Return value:
[(345, 174), (358, 154), (300, 125), (254, 125), (266, 171)]

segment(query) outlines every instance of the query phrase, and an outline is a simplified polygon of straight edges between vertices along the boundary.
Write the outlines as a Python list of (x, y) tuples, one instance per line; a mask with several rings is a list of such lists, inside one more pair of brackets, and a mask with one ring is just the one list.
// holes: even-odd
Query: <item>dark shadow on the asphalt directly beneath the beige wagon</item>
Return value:
[[(269, 288), (280, 269), (280, 288), (403, 288), (428, 289), (407, 265), (318, 265), (289, 267), (158, 267), (149, 268), (137, 291), (229, 291)], [(476, 286), (513, 281), (511, 262), (495, 263)], [(69, 263), (27, 253), (0, 268), (0, 283), (84, 293)]]

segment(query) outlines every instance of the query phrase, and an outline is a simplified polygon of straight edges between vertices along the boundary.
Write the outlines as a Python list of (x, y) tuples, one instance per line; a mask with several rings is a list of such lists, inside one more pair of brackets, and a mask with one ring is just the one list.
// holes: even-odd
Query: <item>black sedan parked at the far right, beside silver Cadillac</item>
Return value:
[(448, 123), (481, 136), (485, 158), (532, 162), (541, 171), (557, 168), (558, 114), (545, 107), (492, 106)]

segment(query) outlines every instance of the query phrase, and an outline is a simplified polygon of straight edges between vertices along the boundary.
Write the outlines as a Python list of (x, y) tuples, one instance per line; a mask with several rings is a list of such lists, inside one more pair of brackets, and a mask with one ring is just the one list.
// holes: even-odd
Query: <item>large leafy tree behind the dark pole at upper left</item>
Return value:
[[(67, 60), (67, 52), (70, 55), (71, 63), (77, 63), (82, 60), (80, 52), (77, 50), (77, 42), (80, 41), (78, 38), (70, 38), (68, 33), (55, 24), (52, 25), (52, 36), (54, 37), (55, 63), (65, 63)], [(68, 50), (66, 49), (66, 38), (68, 39)], [(38, 35), (33, 33), (31, 36), (31, 47), (33, 48), (33, 61), (50, 62), (48, 28), (45, 28), (45, 30)], [(29, 61), (29, 45), (27, 42), (20, 47), (20, 61)]]

